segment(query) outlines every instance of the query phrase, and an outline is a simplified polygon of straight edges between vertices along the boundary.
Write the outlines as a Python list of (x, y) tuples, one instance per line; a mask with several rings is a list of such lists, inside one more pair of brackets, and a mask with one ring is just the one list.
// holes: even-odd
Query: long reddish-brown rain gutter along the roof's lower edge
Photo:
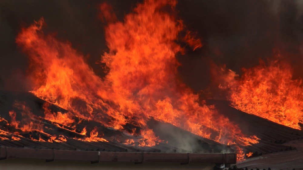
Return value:
[(90, 161), (97, 162), (179, 162), (187, 163), (216, 163), (235, 164), (235, 153), (154, 153), (154, 152), (98, 152), (72, 151), (55, 149), (25, 149), (0, 147), (0, 160), (7, 158), (45, 159), (46, 162)]

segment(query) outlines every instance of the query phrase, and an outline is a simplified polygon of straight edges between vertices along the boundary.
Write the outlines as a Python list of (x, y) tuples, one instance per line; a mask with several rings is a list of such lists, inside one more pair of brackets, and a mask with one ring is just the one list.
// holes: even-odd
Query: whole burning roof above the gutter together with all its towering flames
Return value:
[(214, 67), (225, 99), (202, 100), (178, 75), (176, 56), (203, 44), (178, 18), (176, 4), (146, 0), (122, 22), (102, 3), (108, 50), (97, 63), (103, 77), (73, 44), (45, 31), (43, 17), (23, 27), (15, 40), (29, 58), (31, 91), (1, 92), (1, 145), (235, 152), (239, 162), (294, 149), (284, 143), (302, 138), (303, 89), (291, 66), (261, 61), (241, 76)]

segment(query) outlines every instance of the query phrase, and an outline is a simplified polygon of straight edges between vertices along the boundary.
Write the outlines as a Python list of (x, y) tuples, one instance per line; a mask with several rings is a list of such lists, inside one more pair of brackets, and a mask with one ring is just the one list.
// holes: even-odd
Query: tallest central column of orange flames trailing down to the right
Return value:
[[(110, 51), (102, 62), (109, 68), (106, 80), (112, 83), (120, 108), (128, 109), (126, 116), (152, 116), (210, 139), (211, 132), (223, 131), (226, 136), (218, 139), (222, 143), (257, 142), (255, 137), (245, 137), (213, 106), (198, 102), (198, 95), (177, 78), (175, 54), (183, 50), (174, 40), (183, 25), (161, 12), (165, 5), (174, 8), (176, 1), (145, 1), (125, 17), (124, 23), (106, 28)], [(190, 44), (193, 48), (201, 46), (195, 42)], [(141, 112), (143, 116), (138, 114)]]

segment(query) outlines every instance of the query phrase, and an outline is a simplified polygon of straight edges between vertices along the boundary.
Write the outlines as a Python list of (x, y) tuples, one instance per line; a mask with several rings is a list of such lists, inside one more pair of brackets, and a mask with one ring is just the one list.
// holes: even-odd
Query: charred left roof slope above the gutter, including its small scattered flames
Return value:
[[(46, 119), (45, 103), (31, 93), (0, 93), (1, 113), (1, 142), (2, 146), (7, 147), (26, 147), (36, 149), (63, 149), (63, 150), (95, 150), (110, 152), (178, 152), (178, 153), (220, 153), (222, 150), (233, 152), (229, 146), (218, 142), (202, 138), (191, 134), (168, 123), (160, 122), (155, 119), (148, 121), (149, 126), (157, 131), (157, 135), (166, 139), (153, 147), (141, 146), (139, 142), (145, 142), (140, 136), (133, 136), (128, 132), (122, 132), (95, 122), (94, 120), (85, 121), (74, 118), (76, 124), (64, 125), (52, 119)], [(18, 107), (14, 103), (25, 103)], [(48, 111), (68, 113), (58, 106), (48, 103)], [(30, 111), (31, 117), (25, 119), (24, 108)], [(23, 112), (23, 115), (22, 115)], [(8, 113), (14, 113), (8, 114)], [(27, 115), (26, 115), (27, 116)], [(18, 123), (18, 125), (16, 125)], [(31, 126), (29, 126), (31, 125)], [(34, 128), (39, 126), (39, 128)], [(128, 125), (134, 128), (133, 125)], [(26, 129), (25, 129), (26, 127)], [(28, 128), (31, 127), (31, 128)], [(138, 128), (139, 127), (135, 127)], [(165, 128), (168, 131), (161, 131), (158, 128)], [(86, 133), (83, 132), (86, 129)], [(98, 132), (102, 132), (98, 133)], [(174, 133), (171, 133), (174, 132)], [(179, 138), (183, 136), (183, 138)], [(140, 139), (139, 142), (137, 142)], [(132, 141), (130, 143), (125, 141)]]

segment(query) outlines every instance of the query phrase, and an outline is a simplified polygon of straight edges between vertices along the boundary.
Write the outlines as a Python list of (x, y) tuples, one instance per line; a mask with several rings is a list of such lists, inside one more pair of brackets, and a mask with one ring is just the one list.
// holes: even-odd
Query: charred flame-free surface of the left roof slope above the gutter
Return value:
[[(156, 135), (160, 136), (162, 140), (167, 141), (167, 143), (159, 143), (153, 147), (139, 147), (133, 145), (126, 145), (122, 142), (126, 139), (139, 139), (140, 136), (131, 136), (125, 132), (121, 132), (112, 128), (107, 128), (102, 124), (95, 121), (85, 121), (82, 120), (81, 123), (76, 125), (76, 131), (72, 132), (68, 130), (69, 127), (60, 125), (64, 128), (60, 128), (54, 125), (52, 122), (43, 119), (44, 109), (42, 108), (44, 100), (41, 100), (34, 96), (31, 93), (15, 93), (15, 92), (0, 92), (0, 113), (2, 118), (10, 120), (8, 112), (10, 110), (14, 110), (13, 103), (15, 101), (25, 101), (26, 106), (31, 109), (31, 112), (35, 114), (35, 119), (33, 121), (37, 121), (38, 123), (42, 123), (44, 128), (44, 132), (50, 135), (63, 135), (67, 138), (66, 142), (39, 142), (32, 141), (31, 139), (22, 138), (18, 136), (21, 140), (0, 140), (0, 146), (7, 147), (21, 147), (21, 148), (33, 148), (33, 149), (64, 149), (64, 150), (82, 150), (82, 151), (109, 151), (109, 152), (172, 152), (172, 153), (220, 153), (222, 150), (233, 152), (227, 145), (220, 144), (218, 142), (211, 141), (209, 139), (202, 138), (200, 136), (196, 136), (188, 131), (180, 129), (176, 126), (173, 126), (169, 123), (163, 123), (151, 119), (148, 122), (148, 125), (154, 129)], [(65, 113), (67, 110), (64, 110), (58, 106), (52, 105), (50, 106), (53, 112), (62, 112)], [(17, 112), (18, 117), (18, 110)], [(1, 123), (1, 122), (0, 122)], [(2, 128), (10, 128), (2, 122)], [(74, 137), (83, 138), (85, 136), (80, 135), (80, 131), (78, 129), (93, 129), (94, 127), (98, 127), (98, 131), (104, 133), (103, 138), (107, 139), (108, 142), (85, 142), (77, 139), (73, 139)], [(166, 130), (157, 129), (159, 127), (165, 128)], [(127, 128), (127, 127), (126, 127)], [(137, 127), (138, 128), (138, 127)], [(71, 129), (72, 130), (72, 129)], [(22, 133), (22, 131), (19, 131)], [(77, 132), (77, 133), (76, 133)], [(44, 137), (40, 132), (32, 132), (26, 133), (23, 135), (31, 136), (35, 139), (39, 139), (39, 136)], [(13, 136), (13, 135), (12, 135)], [(11, 139), (12, 136), (6, 136), (8, 139)], [(47, 140), (46, 138), (44, 140)]]

